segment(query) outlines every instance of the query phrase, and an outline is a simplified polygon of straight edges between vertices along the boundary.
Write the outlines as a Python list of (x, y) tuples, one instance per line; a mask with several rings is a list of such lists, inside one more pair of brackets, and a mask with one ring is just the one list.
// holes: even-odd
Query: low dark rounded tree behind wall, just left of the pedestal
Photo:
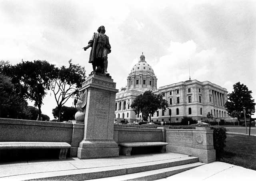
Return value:
[[(62, 106), (60, 112), (58, 112), (58, 106), (52, 109), (52, 114), (54, 118), (58, 118), (58, 120), (62, 121), (74, 120), (76, 112), (77, 109), (75, 107)], [(61, 118), (59, 118), (58, 116), (60, 116)]]

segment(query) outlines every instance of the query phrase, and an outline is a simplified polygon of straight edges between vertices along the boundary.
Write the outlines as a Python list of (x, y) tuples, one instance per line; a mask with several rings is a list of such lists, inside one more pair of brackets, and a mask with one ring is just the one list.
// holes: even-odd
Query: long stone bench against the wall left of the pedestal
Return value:
[(69, 148), (66, 142), (0, 142), (0, 150), (60, 149), (59, 159), (66, 159)]

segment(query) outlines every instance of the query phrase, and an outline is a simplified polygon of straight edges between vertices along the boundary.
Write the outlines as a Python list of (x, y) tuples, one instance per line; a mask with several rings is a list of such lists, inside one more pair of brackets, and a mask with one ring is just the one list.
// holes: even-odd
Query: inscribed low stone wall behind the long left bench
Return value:
[(77, 156), (84, 124), (0, 118), (0, 142), (67, 142), (70, 156)]

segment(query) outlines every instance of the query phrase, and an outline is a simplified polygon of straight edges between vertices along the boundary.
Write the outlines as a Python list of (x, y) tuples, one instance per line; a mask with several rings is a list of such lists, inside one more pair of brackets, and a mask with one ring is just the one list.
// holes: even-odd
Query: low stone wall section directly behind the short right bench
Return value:
[(164, 142), (164, 130), (154, 128), (114, 127), (114, 141), (121, 142)]

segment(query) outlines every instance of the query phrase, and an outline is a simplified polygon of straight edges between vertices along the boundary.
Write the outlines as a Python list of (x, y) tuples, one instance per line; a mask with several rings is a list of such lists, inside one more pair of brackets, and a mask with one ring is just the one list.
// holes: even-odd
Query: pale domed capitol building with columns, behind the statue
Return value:
[(209, 81), (188, 80), (157, 88), (157, 78), (145, 56), (132, 67), (127, 77), (127, 86), (116, 94), (115, 119), (120, 122), (140, 122), (142, 115), (135, 114), (130, 105), (139, 94), (151, 90), (162, 94), (168, 102), (166, 111), (157, 110), (152, 115), (154, 122), (180, 122), (184, 116), (195, 120), (207, 119), (210, 112), (217, 119), (230, 119), (224, 104), (227, 100), (227, 89)]

